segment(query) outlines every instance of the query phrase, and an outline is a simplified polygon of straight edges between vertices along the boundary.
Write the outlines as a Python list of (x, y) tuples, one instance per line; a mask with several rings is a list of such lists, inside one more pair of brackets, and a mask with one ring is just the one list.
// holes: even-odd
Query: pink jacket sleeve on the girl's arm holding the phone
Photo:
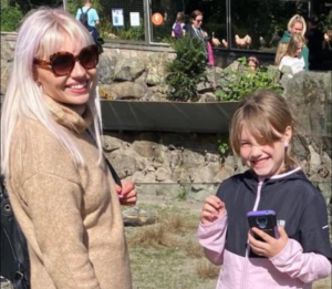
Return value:
[(331, 264), (325, 256), (303, 252), (302, 246), (294, 239), (289, 239), (284, 249), (270, 258), (270, 261), (279, 271), (299, 278), (304, 283), (311, 283), (331, 273)]

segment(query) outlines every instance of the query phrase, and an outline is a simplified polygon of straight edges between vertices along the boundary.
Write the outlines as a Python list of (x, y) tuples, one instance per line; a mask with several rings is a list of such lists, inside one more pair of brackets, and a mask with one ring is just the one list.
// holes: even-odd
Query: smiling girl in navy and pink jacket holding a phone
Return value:
[[(331, 273), (326, 205), (290, 155), (293, 124), (284, 99), (269, 91), (248, 95), (232, 117), (230, 143), (249, 171), (206, 198), (198, 228), (206, 257), (224, 265), (217, 288), (309, 289)], [(266, 209), (282, 225), (278, 239), (249, 233), (246, 214)]]

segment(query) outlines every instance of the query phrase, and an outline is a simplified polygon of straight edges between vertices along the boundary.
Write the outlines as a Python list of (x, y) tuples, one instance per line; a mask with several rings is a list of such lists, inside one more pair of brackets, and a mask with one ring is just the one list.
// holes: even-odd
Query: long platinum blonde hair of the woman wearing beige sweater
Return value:
[[(74, 45), (94, 44), (89, 31), (73, 16), (62, 9), (40, 8), (29, 13), (17, 38), (13, 69), (6, 92), (1, 115), (1, 172), (9, 173), (9, 156), (13, 130), (19, 121), (32, 118), (43, 124), (63, 145), (76, 165), (84, 166), (80, 148), (69, 134), (53, 121), (42, 89), (33, 76), (33, 59), (59, 52), (63, 41), (70, 39)], [(102, 159), (102, 118), (96, 87), (97, 76), (89, 97), (87, 107), (93, 114), (92, 133)]]

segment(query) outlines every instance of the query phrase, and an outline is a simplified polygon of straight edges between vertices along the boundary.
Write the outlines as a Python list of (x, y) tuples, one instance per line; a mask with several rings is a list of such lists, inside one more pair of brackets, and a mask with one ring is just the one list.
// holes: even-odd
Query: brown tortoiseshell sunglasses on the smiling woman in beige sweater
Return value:
[(98, 50), (96, 45), (90, 45), (80, 51), (77, 55), (60, 51), (50, 56), (50, 61), (34, 59), (33, 64), (42, 69), (51, 69), (56, 76), (69, 75), (75, 66), (75, 62), (86, 69), (95, 69), (98, 63)]

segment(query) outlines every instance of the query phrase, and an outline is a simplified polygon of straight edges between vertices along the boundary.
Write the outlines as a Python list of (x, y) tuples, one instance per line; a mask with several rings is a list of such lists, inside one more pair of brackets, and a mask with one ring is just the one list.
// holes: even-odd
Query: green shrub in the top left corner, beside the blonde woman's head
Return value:
[(1, 3), (1, 31), (15, 31), (23, 19), (19, 4), (6, 6)]

